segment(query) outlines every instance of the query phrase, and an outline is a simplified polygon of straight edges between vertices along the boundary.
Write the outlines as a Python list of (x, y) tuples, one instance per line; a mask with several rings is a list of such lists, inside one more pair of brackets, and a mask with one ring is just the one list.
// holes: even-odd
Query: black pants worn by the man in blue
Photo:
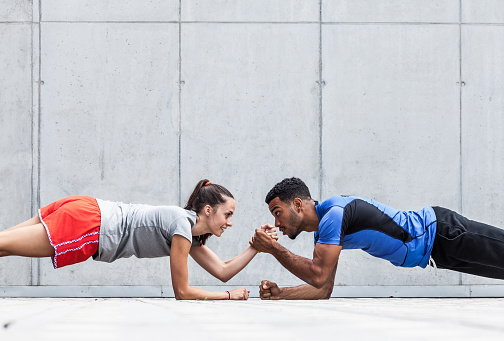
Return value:
[(440, 269), (504, 279), (504, 230), (433, 207), (437, 228), (431, 257)]

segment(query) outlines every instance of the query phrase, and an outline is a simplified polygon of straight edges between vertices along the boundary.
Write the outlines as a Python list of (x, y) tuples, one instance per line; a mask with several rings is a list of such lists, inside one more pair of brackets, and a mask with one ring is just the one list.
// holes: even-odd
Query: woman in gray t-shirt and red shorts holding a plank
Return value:
[[(89, 257), (113, 262), (136, 256), (170, 256), (172, 285), (177, 299), (248, 298), (245, 288), (208, 291), (189, 286), (187, 259), (193, 259), (223, 282), (240, 272), (257, 254), (252, 247), (223, 262), (205, 242), (220, 237), (232, 225), (233, 195), (207, 179), (196, 185), (184, 208), (124, 204), (86, 196), (58, 200), (39, 215), (0, 232), (0, 256), (51, 257), (60, 268)], [(277, 239), (272, 225), (264, 225)]]

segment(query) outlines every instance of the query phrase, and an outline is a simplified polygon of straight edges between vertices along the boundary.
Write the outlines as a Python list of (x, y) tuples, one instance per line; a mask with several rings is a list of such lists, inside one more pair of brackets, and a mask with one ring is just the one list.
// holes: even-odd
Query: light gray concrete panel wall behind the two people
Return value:
[[(0, 65), (0, 229), (72, 194), (183, 205), (207, 177), (237, 199), (233, 227), (209, 240), (228, 259), (273, 222), (264, 196), (289, 176), (317, 199), (442, 205), (504, 226), (500, 0), (0, 0)], [(312, 235), (280, 241), (311, 257)], [(222, 285), (189, 267), (190, 284)], [(261, 279), (301, 283), (260, 254), (225, 286)], [(334, 294), (501, 283), (345, 251)], [(170, 285), (168, 258), (57, 271), (0, 259), (4, 295)]]

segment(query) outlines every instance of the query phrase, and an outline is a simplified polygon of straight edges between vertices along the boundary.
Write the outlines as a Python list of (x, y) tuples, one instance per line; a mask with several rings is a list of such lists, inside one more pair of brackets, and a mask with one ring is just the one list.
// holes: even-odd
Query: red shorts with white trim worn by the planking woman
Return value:
[(39, 210), (54, 247), (55, 269), (83, 262), (98, 251), (101, 213), (96, 199), (71, 196)]

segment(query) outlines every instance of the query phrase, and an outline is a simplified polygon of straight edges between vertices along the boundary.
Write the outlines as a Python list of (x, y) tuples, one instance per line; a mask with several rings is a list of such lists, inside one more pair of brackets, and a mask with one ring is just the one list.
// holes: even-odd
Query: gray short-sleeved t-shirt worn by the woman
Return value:
[(123, 204), (96, 199), (101, 211), (98, 253), (94, 260), (113, 262), (136, 256), (154, 258), (170, 255), (175, 234), (191, 242), (196, 213), (177, 206)]

